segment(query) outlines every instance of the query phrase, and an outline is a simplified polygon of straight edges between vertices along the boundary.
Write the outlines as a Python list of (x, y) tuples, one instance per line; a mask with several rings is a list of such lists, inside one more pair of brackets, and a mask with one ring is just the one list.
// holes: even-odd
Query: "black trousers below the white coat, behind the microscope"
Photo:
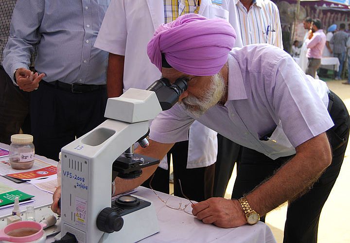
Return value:
[[(173, 155), (174, 166), (174, 195), (184, 197), (180, 191), (178, 179), (181, 180), (183, 193), (191, 200), (200, 202), (212, 197), (215, 164), (207, 167), (186, 169), (188, 156), (188, 141), (177, 142), (169, 151), (168, 168), (170, 168), (170, 155)], [(152, 179), (152, 188), (157, 191), (169, 193), (170, 169), (157, 168)], [(142, 186), (149, 188), (150, 179)]]

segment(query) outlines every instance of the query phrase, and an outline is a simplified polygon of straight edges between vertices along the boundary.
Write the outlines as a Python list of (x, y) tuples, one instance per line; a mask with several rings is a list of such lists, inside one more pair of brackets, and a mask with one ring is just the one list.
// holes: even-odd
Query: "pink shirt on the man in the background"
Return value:
[(323, 33), (323, 30), (315, 31), (311, 39), (305, 40), (307, 52), (306, 57), (308, 58), (322, 58), (323, 48), (326, 45), (326, 35)]

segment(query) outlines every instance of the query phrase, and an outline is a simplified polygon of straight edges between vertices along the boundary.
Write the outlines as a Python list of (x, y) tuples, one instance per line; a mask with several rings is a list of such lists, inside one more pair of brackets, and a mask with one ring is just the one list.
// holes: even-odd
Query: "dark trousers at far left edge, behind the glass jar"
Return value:
[(29, 92), (20, 90), (0, 66), (0, 142), (10, 144), (11, 135), (31, 134)]

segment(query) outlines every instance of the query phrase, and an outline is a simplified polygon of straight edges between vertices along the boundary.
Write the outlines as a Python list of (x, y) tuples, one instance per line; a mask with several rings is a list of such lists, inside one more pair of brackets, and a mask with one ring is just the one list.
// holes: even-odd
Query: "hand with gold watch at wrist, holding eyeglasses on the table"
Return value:
[(214, 224), (222, 228), (246, 224), (245, 213), (238, 200), (212, 197), (192, 205), (192, 213), (204, 224)]

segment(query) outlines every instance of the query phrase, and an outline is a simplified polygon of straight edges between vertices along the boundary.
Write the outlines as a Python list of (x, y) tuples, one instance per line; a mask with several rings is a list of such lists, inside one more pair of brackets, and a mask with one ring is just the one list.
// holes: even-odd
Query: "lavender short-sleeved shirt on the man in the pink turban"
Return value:
[[(279, 48), (234, 48), (228, 68), (226, 104), (197, 119), (228, 139), (275, 159), (295, 154), (295, 147), (333, 126), (326, 84), (305, 75)], [(187, 140), (193, 121), (175, 105), (153, 121), (150, 138), (162, 143)], [(260, 140), (268, 134), (277, 142)]]

